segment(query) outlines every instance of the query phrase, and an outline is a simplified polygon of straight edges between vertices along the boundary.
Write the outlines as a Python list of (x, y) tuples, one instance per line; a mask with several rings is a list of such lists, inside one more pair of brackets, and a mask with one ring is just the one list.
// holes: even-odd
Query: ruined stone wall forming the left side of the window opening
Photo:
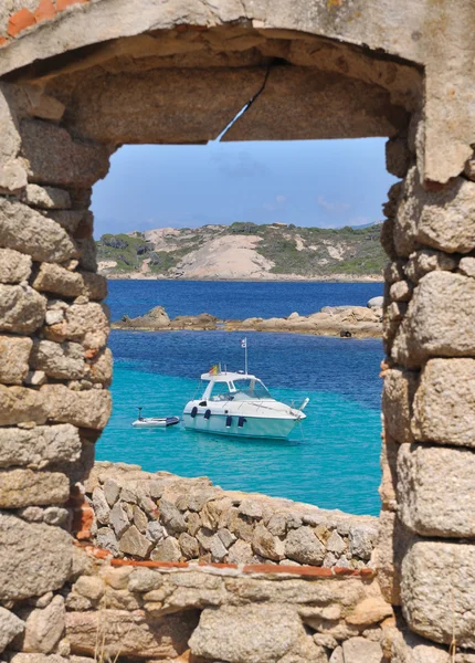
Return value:
[[(107, 288), (87, 210), (108, 154), (74, 141), (61, 113), (0, 86), (0, 650), (17, 638), (13, 649), (44, 654), (64, 649), (70, 496), (110, 411)], [(56, 625), (31, 639), (25, 624), (44, 609)]]

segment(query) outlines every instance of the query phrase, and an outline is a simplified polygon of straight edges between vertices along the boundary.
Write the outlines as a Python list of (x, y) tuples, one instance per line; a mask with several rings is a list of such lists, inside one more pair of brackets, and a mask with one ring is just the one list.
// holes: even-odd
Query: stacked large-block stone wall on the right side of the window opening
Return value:
[[(416, 127), (414, 127), (415, 129)], [(419, 127), (421, 131), (422, 127)], [(415, 130), (414, 130), (415, 133)], [(421, 182), (414, 139), (389, 144), (379, 578), (411, 631), (475, 656), (475, 171)], [(445, 661), (401, 638), (395, 661)], [(458, 650), (457, 650), (458, 651)]]

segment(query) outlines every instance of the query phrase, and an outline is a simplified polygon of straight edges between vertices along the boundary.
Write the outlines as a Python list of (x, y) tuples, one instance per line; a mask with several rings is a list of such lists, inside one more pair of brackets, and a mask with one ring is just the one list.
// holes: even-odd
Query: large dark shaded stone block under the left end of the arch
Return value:
[(57, 125), (25, 120), (21, 138), (30, 181), (86, 188), (104, 178), (109, 169), (104, 146), (73, 140)]

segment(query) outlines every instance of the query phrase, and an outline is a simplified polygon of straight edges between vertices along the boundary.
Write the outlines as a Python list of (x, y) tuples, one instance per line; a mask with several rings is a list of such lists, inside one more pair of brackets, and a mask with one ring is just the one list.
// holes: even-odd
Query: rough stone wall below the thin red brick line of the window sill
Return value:
[(389, 660), (392, 609), (368, 569), (342, 575), (274, 567), (263, 575), (257, 567), (94, 561), (81, 550), (77, 556), (81, 571), (65, 597), (65, 642), (84, 662), (98, 655), (98, 642), (110, 660)]

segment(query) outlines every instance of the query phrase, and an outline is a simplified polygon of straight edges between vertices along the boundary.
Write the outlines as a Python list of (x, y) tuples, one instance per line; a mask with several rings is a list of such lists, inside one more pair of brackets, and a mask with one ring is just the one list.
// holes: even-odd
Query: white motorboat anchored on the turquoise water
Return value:
[(201, 376), (202, 396), (183, 410), (184, 428), (240, 438), (286, 439), (306, 415), (272, 398), (262, 380), (247, 371), (230, 372), (212, 367)]

